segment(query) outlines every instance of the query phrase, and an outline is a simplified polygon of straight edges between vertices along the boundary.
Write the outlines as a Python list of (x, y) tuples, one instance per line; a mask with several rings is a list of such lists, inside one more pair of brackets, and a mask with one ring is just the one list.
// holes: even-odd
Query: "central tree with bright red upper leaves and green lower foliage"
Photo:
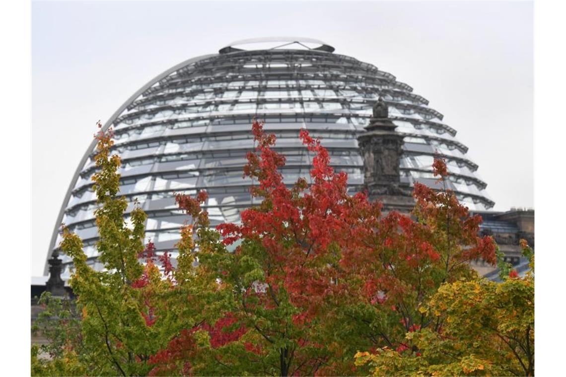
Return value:
[[(493, 240), (477, 237), (481, 218), (470, 217), (453, 193), (417, 184), (415, 220), (382, 216), (379, 203), (348, 194), (346, 174), (333, 171), (327, 150), (306, 130), (299, 137), (315, 154), (312, 183), (299, 179), (289, 188), (275, 136), (261, 122), (252, 132), (257, 148), (245, 175), (258, 181), (252, 195), (261, 204), (242, 212), (241, 225), (218, 226), (222, 243), (207, 223), (198, 232), (198, 275), (218, 281), (222, 314), (232, 330), (242, 329), (229, 352), (216, 353), (215, 372), (234, 372), (227, 360), (238, 360), (239, 371), (251, 374), (351, 374), (359, 348), (402, 352), (411, 346), (406, 332), (438, 330), (422, 313), (432, 294), (446, 281), (473, 277), (468, 261), (495, 262)], [(443, 161), (435, 172), (446, 178)], [(181, 199), (198, 215), (194, 200)], [(222, 247), (235, 242), (234, 252)], [(191, 232), (183, 243), (194, 246)]]

